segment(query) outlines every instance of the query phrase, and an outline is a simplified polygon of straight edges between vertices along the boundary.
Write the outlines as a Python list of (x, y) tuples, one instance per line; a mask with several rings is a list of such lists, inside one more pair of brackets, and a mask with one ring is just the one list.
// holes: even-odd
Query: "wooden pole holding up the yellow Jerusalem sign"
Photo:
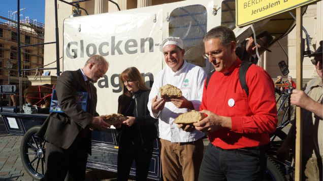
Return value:
[[(302, 26), (303, 15), (302, 8), (296, 9), (296, 87), (302, 89)], [(302, 180), (302, 115), (301, 108), (296, 107), (296, 147), (295, 147), (295, 180)]]

